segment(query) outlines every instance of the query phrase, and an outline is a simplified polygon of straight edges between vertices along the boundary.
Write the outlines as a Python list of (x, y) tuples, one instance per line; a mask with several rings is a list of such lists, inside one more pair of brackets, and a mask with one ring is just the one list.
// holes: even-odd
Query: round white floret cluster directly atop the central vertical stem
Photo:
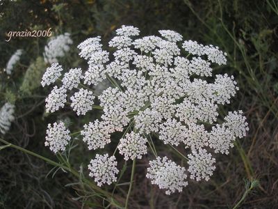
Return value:
[(141, 137), (140, 134), (131, 132), (120, 139), (120, 144), (117, 146), (119, 153), (124, 155), (124, 160), (141, 159), (142, 155), (147, 154), (147, 139)]

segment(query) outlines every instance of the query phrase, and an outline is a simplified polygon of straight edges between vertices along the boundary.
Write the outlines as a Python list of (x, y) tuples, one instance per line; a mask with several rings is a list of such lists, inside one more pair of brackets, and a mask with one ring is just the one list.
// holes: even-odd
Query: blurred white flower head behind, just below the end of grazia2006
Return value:
[(50, 64), (58, 62), (58, 58), (65, 56), (65, 53), (70, 51), (70, 45), (72, 45), (70, 33), (51, 38), (44, 47), (44, 61)]

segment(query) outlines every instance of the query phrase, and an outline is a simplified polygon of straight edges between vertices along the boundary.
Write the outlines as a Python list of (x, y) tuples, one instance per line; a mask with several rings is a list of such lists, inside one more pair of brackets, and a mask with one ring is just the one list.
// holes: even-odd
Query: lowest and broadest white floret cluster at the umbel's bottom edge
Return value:
[(167, 157), (156, 157), (156, 160), (150, 161), (146, 177), (151, 179), (153, 185), (158, 185), (159, 189), (166, 189), (165, 194), (172, 194), (176, 190), (181, 192), (188, 185), (186, 169)]

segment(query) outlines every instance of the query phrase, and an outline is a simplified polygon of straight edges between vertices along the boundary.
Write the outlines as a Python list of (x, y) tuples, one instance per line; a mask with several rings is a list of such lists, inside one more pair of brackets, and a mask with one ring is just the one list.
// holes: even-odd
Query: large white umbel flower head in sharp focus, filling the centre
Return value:
[[(124, 160), (140, 159), (151, 151), (157, 157), (149, 162), (147, 178), (166, 194), (181, 192), (188, 184), (187, 176), (209, 180), (216, 168), (214, 155), (228, 154), (235, 139), (247, 134), (242, 111), (229, 112), (224, 118), (218, 114), (218, 106), (228, 104), (238, 87), (232, 75), (213, 71), (227, 62), (227, 54), (218, 47), (183, 41), (181, 34), (170, 30), (158, 31), (161, 36), (136, 38), (139, 32), (133, 26), (117, 29), (108, 42), (113, 56), (102, 49), (99, 36), (81, 42), (79, 55), (88, 68), (65, 73), (62, 86), (55, 86), (47, 98), (47, 111), (67, 103), (78, 115), (101, 109), (101, 118), (81, 130), (88, 149), (106, 148), (111, 134), (122, 132), (116, 150)], [(54, 83), (59, 69), (54, 65), (46, 72), (44, 83)], [(107, 80), (110, 87), (99, 93), (93, 90)], [(68, 89), (72, 89), (69, 97)], [(158, 140), (173, 150), (183, 147), (188, 164), (181, 167), (159, 157)], [(99, 186), (111, 184), (118, 173), (116, 166), (113, 155), (97, 155), (89, 166), (90, 176)]]

